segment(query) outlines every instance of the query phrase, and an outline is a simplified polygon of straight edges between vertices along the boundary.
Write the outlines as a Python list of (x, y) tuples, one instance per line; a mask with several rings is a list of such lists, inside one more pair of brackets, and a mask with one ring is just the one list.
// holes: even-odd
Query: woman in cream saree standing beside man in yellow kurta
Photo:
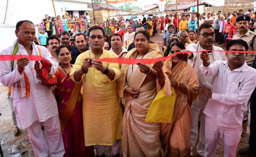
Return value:
[[(136, 32), (134, 39), (136, 48), (129, 51), (125, 58), (155, 59), (163, 56), (157, 44), (149, 44), (150, 35), (147, 31)], [(125, 110), (120, 156), (161, 156), (161, 123), (145, 122), (148, 108), (156, 96), (156, 71), (151, 66), (138, 63), (123, 64), (121, 67), (117, 90)]]

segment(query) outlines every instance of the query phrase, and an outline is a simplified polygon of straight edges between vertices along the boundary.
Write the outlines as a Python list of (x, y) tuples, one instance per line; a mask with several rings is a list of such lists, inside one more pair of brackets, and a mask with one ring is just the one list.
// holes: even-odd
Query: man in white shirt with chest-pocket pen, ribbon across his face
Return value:
[[(248, 51), (242, 39), (231, 40), (227, 51)], [(227, 61), (218, 60), (210, 65), (210, 54), (203, 52), (200, 66), (204, 76), (214, 76), (212, 90), (199, 88), (209, 98), (205, 109), (205, 156), (214, 157), (219, 137), (224, 156), (235, 157), (243, 131), (242, 123), (247, 103), (256, 86), (256, 70), (247, 66), (247, 53), (226, 52)]]

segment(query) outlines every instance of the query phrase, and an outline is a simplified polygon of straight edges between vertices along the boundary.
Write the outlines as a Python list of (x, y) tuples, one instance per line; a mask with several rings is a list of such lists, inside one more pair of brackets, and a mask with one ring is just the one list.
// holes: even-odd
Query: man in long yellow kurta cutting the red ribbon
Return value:
[(122, 109), (116, 90), (121, 75), (117, 63), (101, 62), (100, 58), (116, 58), (103, 49), (104, 30), (94, 26), (88, 32), (90, 50), (81, 53), (70, 71), (75, 82), (83, 81), (83, 120), (85, 146), (95, 145), (97, 156), (105, 156), (104, 145), (112, 145), (112, 154), (119, 156)]

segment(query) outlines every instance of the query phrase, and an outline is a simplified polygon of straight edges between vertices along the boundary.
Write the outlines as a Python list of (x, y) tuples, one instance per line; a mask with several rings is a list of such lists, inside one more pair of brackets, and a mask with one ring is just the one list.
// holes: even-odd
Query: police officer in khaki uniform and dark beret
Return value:
[[(256, 33), (250, 31), (250, 29), (248, 28), (250, 20), (251, 17), (248, 15), (241, 15), (236, 18), (236, 22), (238, 23), (237, 26), (240, 32), (235, 33), (232, 40), (242, 39), (248, 44), (248, 51), (256, 51)], [(254, 53), (249, 53), (247, 58), (245, 59), (245, 62), (250, 67), (252, 67), (254, 56)]]

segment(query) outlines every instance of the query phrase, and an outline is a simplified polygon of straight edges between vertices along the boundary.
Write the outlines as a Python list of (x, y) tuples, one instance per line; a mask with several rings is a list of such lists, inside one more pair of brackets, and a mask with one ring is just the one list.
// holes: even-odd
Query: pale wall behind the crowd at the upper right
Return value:
[[(242, 9), (245, 12), (248, 11), (249, 8), (253, 8), (254, 5), (253, 4), (241, 4), (241, 6), (234, 6), (234, 5), (229, 5), (229, 7), (227, 5), (225, 6), (214, 6), (214, 7), (210, 7), (209, 9), (207, 8), (204, 8), (204, 12), (207, 13), (207, 12), (215, 12), (217, 13), (219, 10), (221, 11), (221, 14), (224, 15), (224, 14), (227, 14), (228, 11), (231, 11), (231, 12), (234, 12), (234, 11), (239, 11), (240, 8), (246, 8), (246, 9)], [(229, 8), (229, 9), (227, 9)]]

